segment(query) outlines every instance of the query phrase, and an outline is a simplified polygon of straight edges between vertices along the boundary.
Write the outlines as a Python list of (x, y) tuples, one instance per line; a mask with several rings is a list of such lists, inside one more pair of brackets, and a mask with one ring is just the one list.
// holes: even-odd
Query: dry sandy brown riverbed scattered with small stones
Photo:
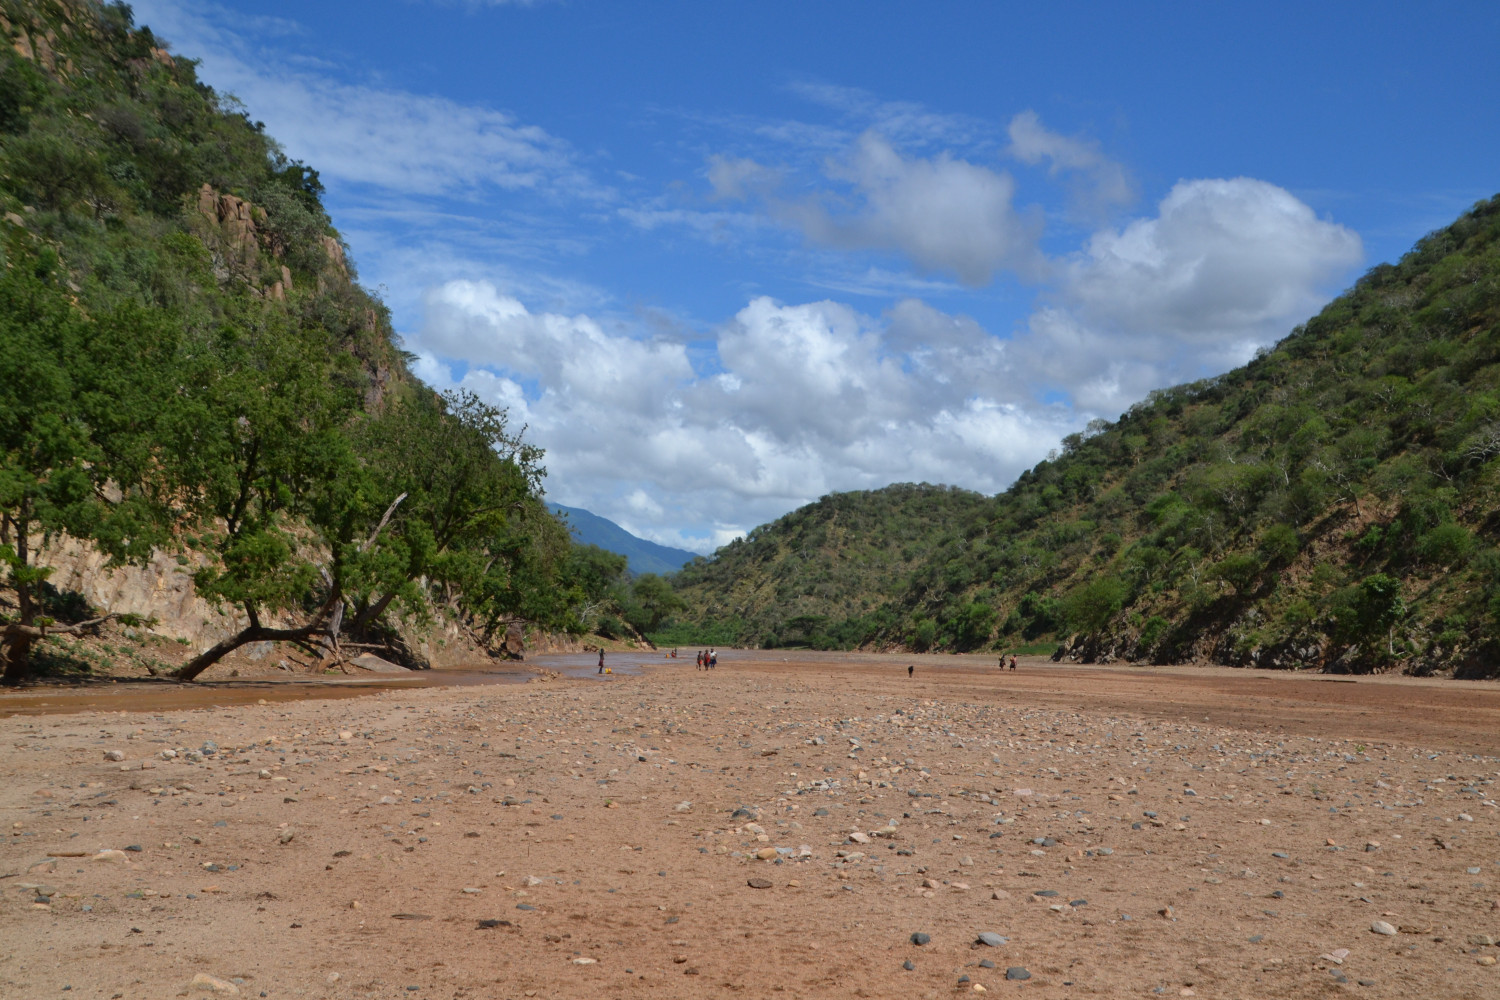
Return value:
[(0, 720), (0, 997), (1500, 996), (1500, 685), (992, 664)]

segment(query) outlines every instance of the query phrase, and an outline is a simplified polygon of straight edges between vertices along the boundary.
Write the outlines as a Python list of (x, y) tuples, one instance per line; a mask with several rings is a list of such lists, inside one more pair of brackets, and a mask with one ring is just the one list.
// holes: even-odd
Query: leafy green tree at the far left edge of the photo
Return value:
[(27, 676), (36, 640), (104, 621), (44, 613), (38, 543), (66, 532), (114, 562), (141, 561), (170, 520), (153, 442), (177, 331), (134, 306), (90, 319), (51, 267), (22, 253), (0, 270), (0, 567), (16, 601), (0, 618), (4, 684)]

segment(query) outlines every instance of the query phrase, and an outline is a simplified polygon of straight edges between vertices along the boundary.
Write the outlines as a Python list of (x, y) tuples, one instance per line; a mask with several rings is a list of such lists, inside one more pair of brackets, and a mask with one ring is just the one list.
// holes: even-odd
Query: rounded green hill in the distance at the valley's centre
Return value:
[(903, 483), (831, 493), (714, 553), (674, 583), (688, 621), (759, 646), (837, 649), (894, 633), (894, 601), (934, 540), (982, 517), (990, 501)]

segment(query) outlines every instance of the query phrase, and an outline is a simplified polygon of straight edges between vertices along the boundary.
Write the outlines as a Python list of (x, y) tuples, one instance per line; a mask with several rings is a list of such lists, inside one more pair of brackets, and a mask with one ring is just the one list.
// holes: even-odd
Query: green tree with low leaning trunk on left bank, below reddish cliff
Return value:
[[(182, 681), (250, 642), (316, 651), (315, 636), (342, 607), (345, 570), (382, 525), (345, 433), (358, 403), (350, 358), (278, 313), (246, 319), (248, 330), (194, 345), (166, 429), (170, 469), (212, 558), (194, 583), (248, 622), (178, 667)], [(278, 627), (278, 615), (304, 619)]]

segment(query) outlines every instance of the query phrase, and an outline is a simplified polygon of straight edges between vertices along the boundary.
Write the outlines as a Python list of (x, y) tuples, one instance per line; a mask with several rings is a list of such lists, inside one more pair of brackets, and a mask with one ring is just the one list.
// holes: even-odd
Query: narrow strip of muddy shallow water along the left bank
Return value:
[(410, 673), (362, 673), (358, 676), (296, 676), (232, 681), (88, 681), (84, 684), (44, 684), (18, 691), (0, 691), (0, 718), (12, 715), (58, 715), (68, 712), (168, 712), (190, 708), (225, 708), (304, 699), (346, 699), (376, 691), (410, 688), (480, 687), (525, 684), (542, 670), (556, 670), (572, 681), (608, 681), (616, 675), (638, 675), (645, 663), (662, 658), (658, 652), (609, 652), (604, 663), (610, 673), (600, 676), (598, 654), (548, 654), (522, 663), (508, 661), (452, 670), (412, 670)]

